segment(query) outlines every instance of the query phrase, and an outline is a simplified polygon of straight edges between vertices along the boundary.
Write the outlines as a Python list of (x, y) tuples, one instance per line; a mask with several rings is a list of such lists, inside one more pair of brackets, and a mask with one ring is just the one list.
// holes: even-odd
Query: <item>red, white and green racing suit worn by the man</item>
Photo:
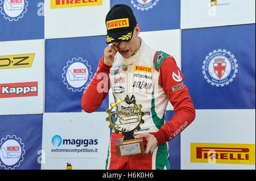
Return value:
[[(144, 123), (140, 125), (141, 130), (134, 134), (154, 134), (158, 146), (152, 154), (117, 157), (115, 139), (121, 138), (122, 134), (113, 131), (106, 169), (170, 169), (167, 141), (195, 119), (195, 108), (174, 57), (148, 47), (143, 40), (138, 52), (129, 58), (116, 53), (112, 67), (105, 65), (102, 57), (98, 70), (82, 95), (82, 109), (86, 112), (96, 111), (109, 92), (113, 92), (114, 100), (123, 100), (128, 95), (142, 105)], [(171, 121), (165, 122), (168, 100), (174, 107), (175, 115)], [(118, 110), (130, 106), (122, 104)], [(145, 146), (146, 143), (144, 139)]]

